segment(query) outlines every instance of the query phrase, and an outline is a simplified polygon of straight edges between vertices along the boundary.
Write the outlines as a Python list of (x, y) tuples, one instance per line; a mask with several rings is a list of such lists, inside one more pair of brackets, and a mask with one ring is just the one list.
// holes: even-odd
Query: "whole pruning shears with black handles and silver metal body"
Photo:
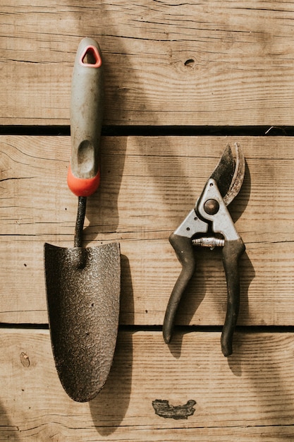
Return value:
[(164, 317), (164, 341), (169, 343), (173, 333), (176, 310), (192, 275), (195, 273), (195, 246), (214, 249), (222, 247), (223, 267), (228, 289), (226, 319), (221, 334), (224, 356), (233, 352), (233, 333), (240, 304), (240, 277), (238, 261), (245, 245), (228, 212), (227, 206), (238, 195), (245, 175), (243, 150), (235, 143), (235, 156), (231, 146), (223, 151), (219, 164), (208, 179), (204, 189), (185, 220), (169, 237), (182, 270), (173, 287)]

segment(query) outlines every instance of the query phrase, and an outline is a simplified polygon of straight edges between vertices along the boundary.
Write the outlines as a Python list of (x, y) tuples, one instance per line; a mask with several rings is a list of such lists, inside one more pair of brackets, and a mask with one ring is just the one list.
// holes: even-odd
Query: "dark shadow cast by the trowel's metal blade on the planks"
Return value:
[[(133, 286), (128, 258), (121, 255), (121, 310), (126, 300), (133, 314)], [(97, 432), (106, 437), (123, 421), (130, 402), (133, 363), (133, 335), (118, 328), (114, 361), (103, 390), (89, 402), (92, 421)]]

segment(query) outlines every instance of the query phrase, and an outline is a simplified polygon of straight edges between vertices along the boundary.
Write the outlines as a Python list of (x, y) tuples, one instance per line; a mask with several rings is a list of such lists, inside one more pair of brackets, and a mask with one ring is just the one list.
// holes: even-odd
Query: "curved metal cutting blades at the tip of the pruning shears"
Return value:
[(245, 157), (238, 143), (234, 144), (235, 156), (228, 144), (221, 155), (219, 164), (212, 172), (210, 178), (216, 181), (223, 202), (229, 205), (238, 195), (245, 175)]

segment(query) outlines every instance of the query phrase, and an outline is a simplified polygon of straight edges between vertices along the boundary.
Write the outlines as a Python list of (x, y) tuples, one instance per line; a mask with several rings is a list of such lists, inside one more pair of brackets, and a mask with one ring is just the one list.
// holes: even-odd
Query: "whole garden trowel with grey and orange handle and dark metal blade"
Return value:
[(44, 244), (51, 345), (61, 384), (75, 401), (93, 399), (109, 375), (118, 332), (121, 260), (118, 243), (82, 248), (87, 197), (100, 180), (102, 56), (85, 38), (75, 57), (71, 91), (68, 187), (78, 196), (72, 249)]

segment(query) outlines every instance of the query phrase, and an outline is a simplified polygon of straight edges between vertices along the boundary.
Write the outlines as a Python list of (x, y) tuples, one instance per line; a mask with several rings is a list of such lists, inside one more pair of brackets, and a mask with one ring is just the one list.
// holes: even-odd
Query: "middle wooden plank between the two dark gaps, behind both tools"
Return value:
[[(161, 325), (180, 264), (169, 234), (194, 206), (226, 137), (104, 137), (102, 184), (88, 198), (85, 245), (119, 241), (121, 324)], [(230, 206), (247, 251), (240, 325), (294, 323), (293, 138), (238, 138), (245, 181)], [(77, 199), (69, 137), (1, 136), (0, 321), (47, 323), (43, 244), (73, 246)], [(177, 323), (221, 325), (221, 251), (199, 251)]]

